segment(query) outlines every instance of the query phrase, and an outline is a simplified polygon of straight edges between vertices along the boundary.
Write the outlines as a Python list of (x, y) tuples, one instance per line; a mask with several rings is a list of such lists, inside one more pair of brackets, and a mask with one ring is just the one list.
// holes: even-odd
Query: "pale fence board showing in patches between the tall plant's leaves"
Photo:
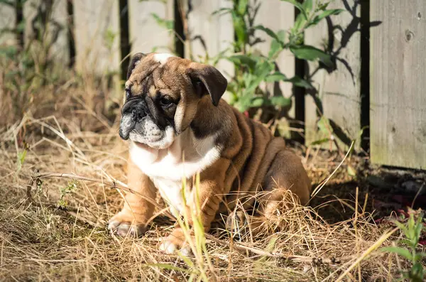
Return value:
[[(292, 4), (276, 0), (262, 0), (257, 2), (261, 5), (255, 18), (255, 25), (271, 28), (274, 32), (280, 30), (287, 31), (294, 25), (295, 9)], [(263, 31), (256, 31), (255, 36), (263, 40), (263, 42), (256, 44), (255, 48), (267, 56), (271, 49), (271, 36), (266, 35)], [(295, 57), (290, 51), (284, 50), (280, 53), (277, 65), (280, 72), (283, 72), (287, 77), (295, 75)], [(273, 94), (283, 94), (284, 97), (292, 97), (292, 87), (291, 83), (280, 82), (277, 89), (271, 83), (271, 85), (268, 85), (268, 90)], [(290, 109), (289, 114), (294, 118), (294, 107)]]

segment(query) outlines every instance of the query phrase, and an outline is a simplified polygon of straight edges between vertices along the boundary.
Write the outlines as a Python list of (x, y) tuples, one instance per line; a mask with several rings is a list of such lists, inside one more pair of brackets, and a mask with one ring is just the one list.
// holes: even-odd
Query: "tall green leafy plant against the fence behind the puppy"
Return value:
[[(231, 93), (231, 104), (241, 112), (251, 107), (285, 107), (291, 103), (289, 98), (282, 96), (268, 97), (268, 93), (261, 89), (263, 82), (289, 82), (298, 87), (313, 88), (311, 83), (302, 77), (286, 77), (275, 67), (275, 61), (283, 50), (290, 50), (296, 58), (302, 60), (320, 60), (324, 65), (332, 66), (328, 53), (311, 45), (303, 44), (303, 33), (307, 28), (316, 26), (327, 16), (337, 15), (344, 10), (327, 9), (329, 2), (317, 1), (314, 8), (313, 0), (305, 0), (302, 4), (295, 0), (286, 1), (300, 10), (295, 25), (289, 31), (272, 31), (270, 28), (254, 26), (254, 20), (261, 1), (232, 0), (231, 8), (222, 8), (214, 13), (231, 14), (235, 30), (234, 54), (224, 55), (224, 59), (235, 65), (235, 75), (229, 82), (228, 91)], [(268, 55), (256, 53), (253, 49), (261, 42), (256, 38), (255, 31), (263, 31), (272, 38)]]

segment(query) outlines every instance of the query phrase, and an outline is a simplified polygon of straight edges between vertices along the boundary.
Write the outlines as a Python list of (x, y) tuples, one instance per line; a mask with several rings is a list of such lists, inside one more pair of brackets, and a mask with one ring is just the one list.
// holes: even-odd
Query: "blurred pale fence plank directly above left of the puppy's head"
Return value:
[(119, 2), (74, 0), (76, 67), (105, 75), (120, 70)]

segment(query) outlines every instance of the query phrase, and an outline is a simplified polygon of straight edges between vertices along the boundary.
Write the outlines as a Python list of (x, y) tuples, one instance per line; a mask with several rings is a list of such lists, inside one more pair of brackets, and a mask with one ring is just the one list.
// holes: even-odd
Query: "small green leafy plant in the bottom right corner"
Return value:
[[(415, 212), (414, 210), (410, 210), (408, 213), (408, 221), (405, 224), (398, 222), (397, 220), (393, 221), (393, 223), (399, 227), (401, 232), (403, 232), (405, 239), (400, 240), (400, 242), (405, 244), (406, 247), (388, 246), (381, 250), (398, 254), (411, 262), (411, 269), (403, 271), (402, 277), (398, 281), (408, 279), (408, 281), (420, 282), (424, 281), (426, 275), (426, 270), (423, 268), (421, 262), (422, 258), (425, 257), (426, 254), (417, 251), (422, 230), (425, 229), (423, 224), (423, 214), (422, 212)], [(417, 219), (415, 217), (417, 217)]]

